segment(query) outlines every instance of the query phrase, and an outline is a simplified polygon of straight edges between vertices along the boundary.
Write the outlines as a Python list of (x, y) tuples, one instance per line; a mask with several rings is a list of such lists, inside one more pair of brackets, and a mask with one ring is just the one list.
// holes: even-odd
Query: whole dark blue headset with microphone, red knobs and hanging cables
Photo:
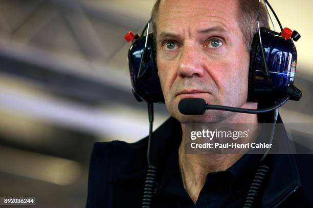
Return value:
[[(260, 0), (258, 1), (260, 8)], [(267, 2), (267, 0), (263, 1), (267, 13), (269, 13), (267, 6), (270, 7), (279, 24), (281, 32), (275, 32), (275, 25), (270, 13), (269, 16), (274, 30), (260, 28), (258, 12), (258, 32), (253, 37), (250, 50), (248, 101), (262, 102), (263, 100), (266, 100), (266, 102), (275, 104), (266, 109), (251, 110), (207, 105), (204, 100), (186, 98), (181, 100), (178, 108), (181, 113), (186, 115), (200, 115), (208, 109), (241, 113), (266, 113), (275, 110), (270, 140), (272, 142), (275, 123), (278, 116), (278, 107), (282, 106), (288, 99), (298, 101), (302, 96), (301, 90), (294, 86), (297, 66), (297, 50), (294, 41), (298, 41), (301, 36), (295, 30), (292, 31), (289, 28), (283, 29), (269, 2)], [(124, 36), (128, 42), (132, 41), (128, 51), (128, 65), (133, 95), (138, 101), (146, 101), (148, 103), (150, 131), (147, 149), (148, 172), (144, 188), (143, 208), (151, 206), (155, 187), (155, 177), (157, 174), (157, 167), (150, 163), (149, 158), (153, 122), (153, 103), (164, 103), (164, 96), (161, 89), (160, 78), (158, 76), (155, 35), (153, 33), (149, 34), (149, 27), (150, 20), (146, 24), (141, 36), (134, 35), (130, 31)], [(144, 35), (145, 31), (146, 35)], [(194, 110), (198, 108), (198, 106), (200, 106), (200, 110)], [(262, 181), (269, 171), (269, 166), (264, 165), (263, 163), (267, 153), (268, 150), (260, 161), (260, 166), (250, 187), (244, 207), (253, 206), (258, 194), (256, 194), (254, 190), (260, 189)], [(263, 177), (261, 180), (260, 175)]]

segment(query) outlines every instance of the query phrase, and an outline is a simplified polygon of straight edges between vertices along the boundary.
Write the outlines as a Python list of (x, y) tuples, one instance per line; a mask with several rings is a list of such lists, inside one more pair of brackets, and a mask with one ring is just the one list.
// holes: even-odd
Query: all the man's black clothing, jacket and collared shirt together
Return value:
[[(262, 155), (245, 154), (226, 171), (209, 173), (194, 204), (180, 175), (181, 140), (180, 122), (172, 117), (153, 132), (151, 158), (158, 167), (158, 183), (152, 207), (243, 207)], [(146, 137), (131, 144), (95, 143), (86, 207), (141, 207), (147, 142)], [(256, 207), (313, 207), (312, 155), (269, 154), (268, 160), (270, 174)]]

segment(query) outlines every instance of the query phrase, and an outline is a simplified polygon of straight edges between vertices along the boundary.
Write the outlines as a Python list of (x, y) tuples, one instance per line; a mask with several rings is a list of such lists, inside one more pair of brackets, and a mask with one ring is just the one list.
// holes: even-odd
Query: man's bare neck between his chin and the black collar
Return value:
[[(250, 106), (249, 106), (250, 107)], [(243, 105), (242, 108), (247, 108)], [(258, 123), (256, 114), (234, 113), (221, 123)], [(243, 154), (185, 154), (185, 124), (182, 125), (183, 138), (178, 149), (178, 158), (183, 184), (190, 198), (195, 203), (205, 184), (207, 174), (223, 171), (237, 162)], [(253, 134), (253, 133), (252, 133)]]

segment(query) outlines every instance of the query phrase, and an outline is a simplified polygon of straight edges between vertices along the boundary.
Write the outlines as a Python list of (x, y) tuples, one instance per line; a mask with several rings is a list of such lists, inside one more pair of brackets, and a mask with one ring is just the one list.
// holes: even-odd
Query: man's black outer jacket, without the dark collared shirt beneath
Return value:
[[(279, 122), (281, 122), (280, 117)], [(95, 143), (90, 161), (86, 207), (141, 207), (147, 170), (147, 141), (146, 137), (131, 144), (121, 141)], [(153, 133), (151, 157), (157, 158), (153, 162), (158, 164), (161, 175), (156, 195), (160, 190), (162, 191), (163, 183), (165, 183), (162, 171), (168, 171), (169, 163), (172, 163), (168, 159), (169, 155), (177, 151), (180, 142), (180, 122), (172, 117)], [(313, 207), (312, 165), (311, 154), (271, 154), (270, 176), (258, 205), (261, 207)], [(255, 172), (257, 166), (252, 165), (247, 168), (246, 170)], [(242, 183), (238, 184), (242, 191), (241, 195), (238, 195), (238, 199), (234, 199), (232, 205), (220, 207), (242, 207), (252, 178), (253, 175), (241, 177)], [(167, 202), (158, 201), (157, 197), (155, 207), (176, 207), (173, 204), (170, 205), (170, 200), (166, 200)]]

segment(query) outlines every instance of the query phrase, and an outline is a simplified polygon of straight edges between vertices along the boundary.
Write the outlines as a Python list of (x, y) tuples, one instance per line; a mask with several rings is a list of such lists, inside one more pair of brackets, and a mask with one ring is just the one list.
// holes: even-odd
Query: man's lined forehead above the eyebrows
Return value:
[(221, 26), (239, 30), (238, 0), (162, 0), (158, 14), (158, 34), (162, 29), (201, 30)]

